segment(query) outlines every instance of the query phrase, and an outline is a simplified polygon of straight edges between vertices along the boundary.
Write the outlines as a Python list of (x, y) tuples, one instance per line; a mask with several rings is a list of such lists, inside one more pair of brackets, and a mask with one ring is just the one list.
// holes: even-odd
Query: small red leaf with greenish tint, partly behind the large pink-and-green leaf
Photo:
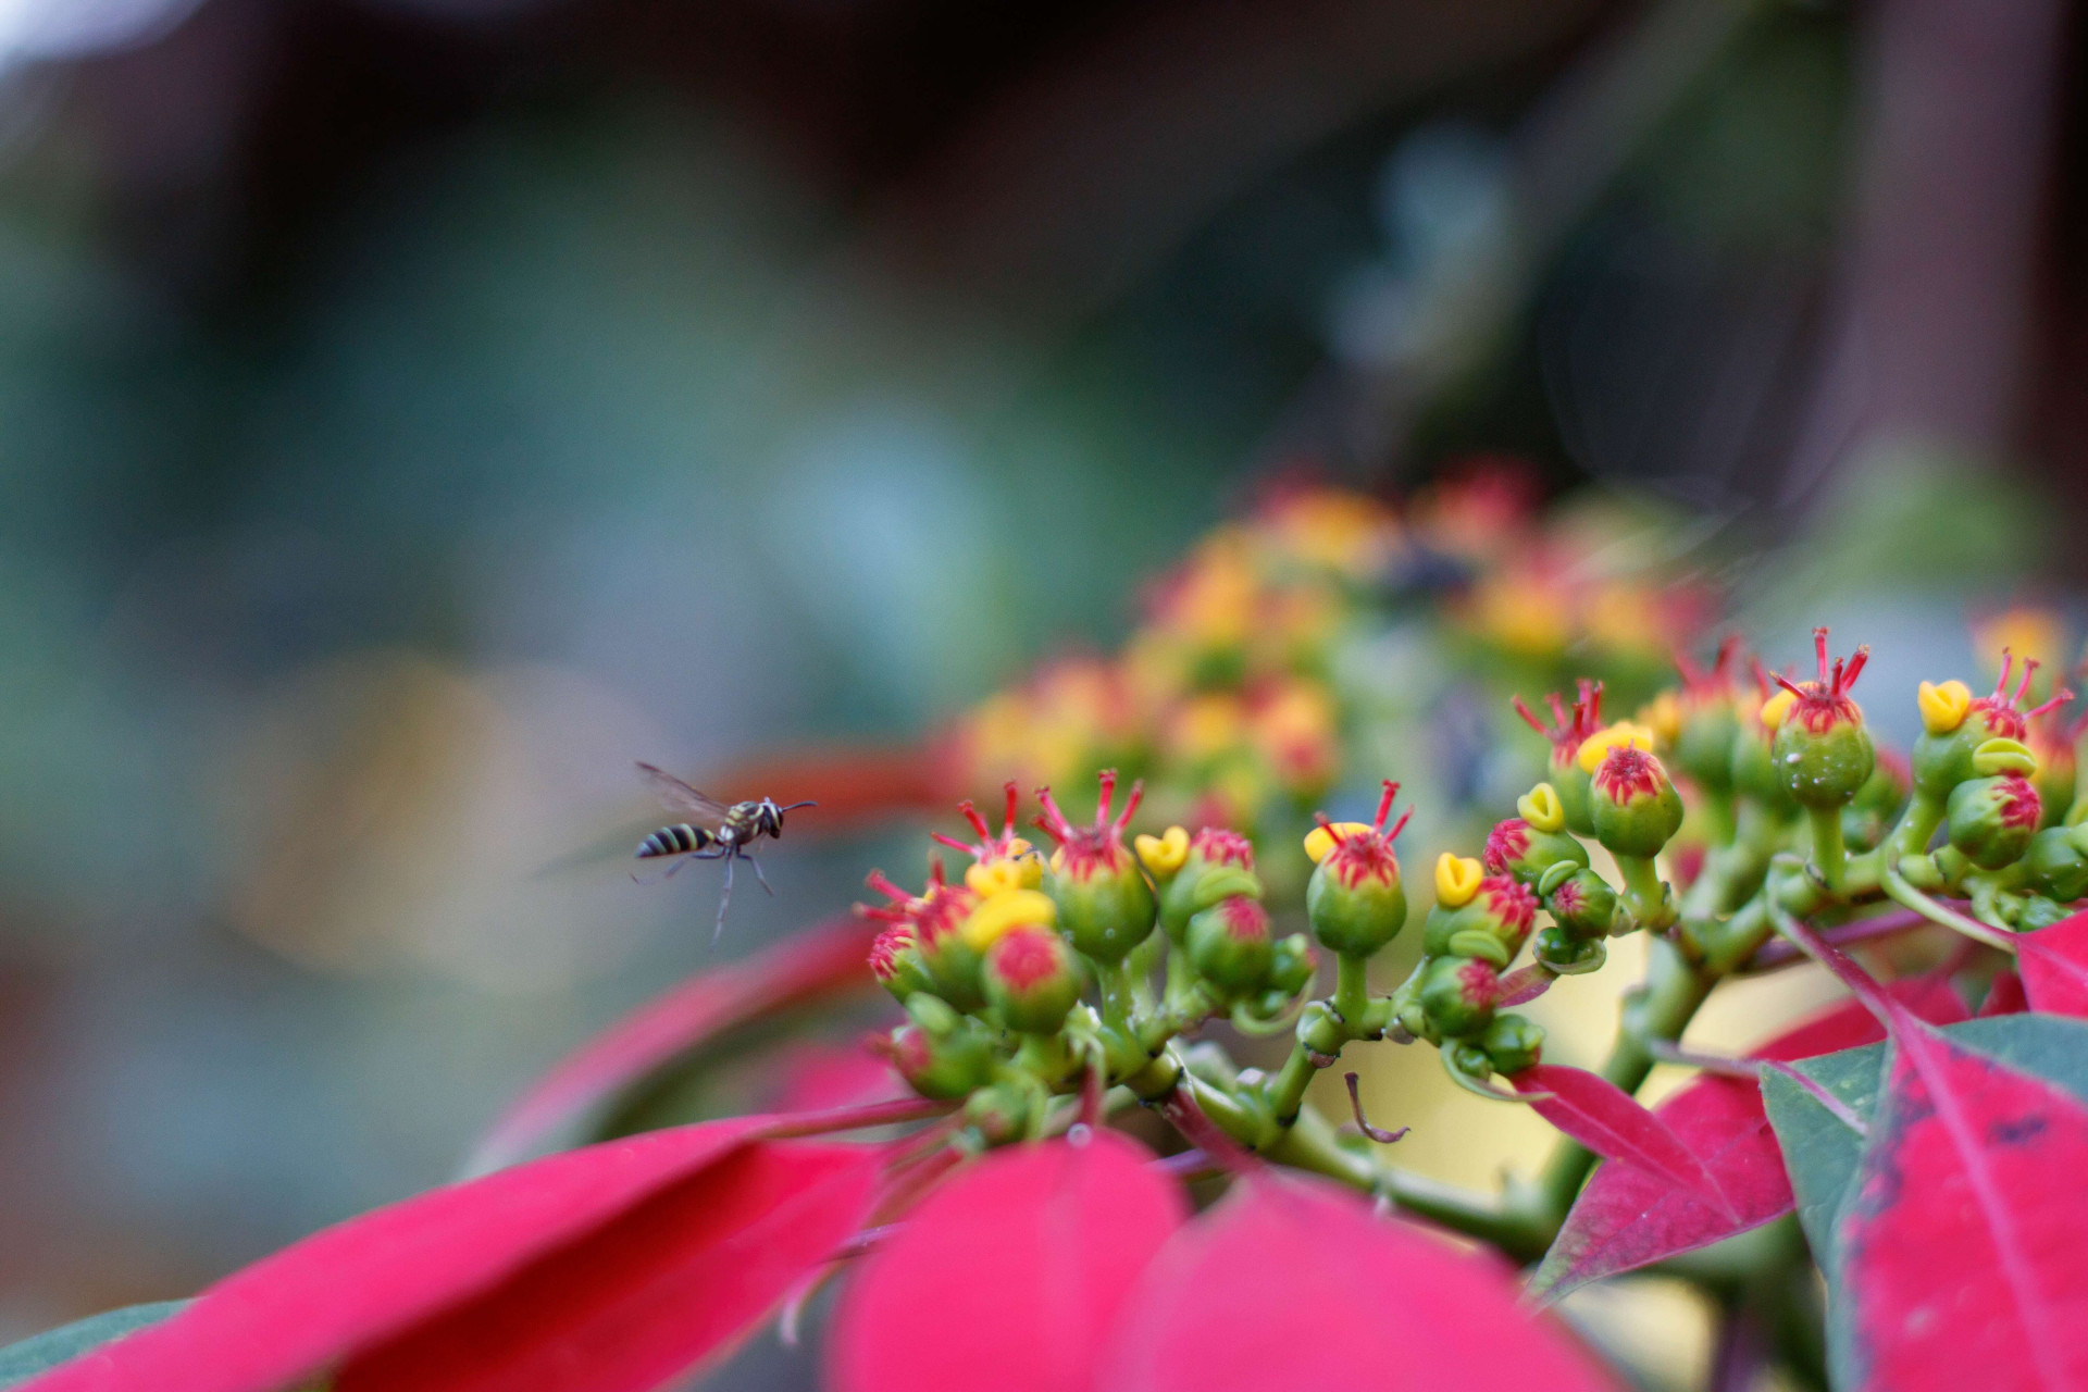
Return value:
[[(1965, 1002), (1946, 977), (1911, 977), (1892, 993), (1936, 1025), (1965, 1018)], [(1877, 1018), (1850, 1000), (1758, 1046), (1750, 1058), (1814, 1058), (1885, 1037)], [(1677, 1089), (1654, 1114), (1702, 1160), (1733, 1204), (1727, 1217), (1631, 1165), (1604, 1165), (1581, 1190), (1558, 1242), (1531, 1277), (1531, 1290), (1558, 1298), (1576, 1286), (1656, 1261), (1693, 1252), (1792, 1210), (1783, 1169), (1760, 1089), (1737, 1077), (1704, 1075)]]

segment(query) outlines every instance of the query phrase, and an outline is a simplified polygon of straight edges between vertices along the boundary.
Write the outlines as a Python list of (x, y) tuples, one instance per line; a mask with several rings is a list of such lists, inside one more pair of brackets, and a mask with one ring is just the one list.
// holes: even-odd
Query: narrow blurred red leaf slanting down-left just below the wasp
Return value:
[(543, 1148), (662, 1064), (775, 1010), (871, 987), (864, 966), (881, 925), (833, 918), (775, 947), (691, 977), (568, 1054), (493, 1123), (466, 1167), (484, 1175)]

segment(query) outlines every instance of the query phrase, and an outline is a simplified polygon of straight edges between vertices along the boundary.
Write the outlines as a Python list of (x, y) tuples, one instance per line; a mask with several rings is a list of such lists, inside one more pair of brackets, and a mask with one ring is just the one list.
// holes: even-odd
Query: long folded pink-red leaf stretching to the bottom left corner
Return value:
[(520, 1165), (330, 1227), (33, 1392), (645, 1392), (754, 1327), (869, 1210), (881, 1152), (770, 1117)]

